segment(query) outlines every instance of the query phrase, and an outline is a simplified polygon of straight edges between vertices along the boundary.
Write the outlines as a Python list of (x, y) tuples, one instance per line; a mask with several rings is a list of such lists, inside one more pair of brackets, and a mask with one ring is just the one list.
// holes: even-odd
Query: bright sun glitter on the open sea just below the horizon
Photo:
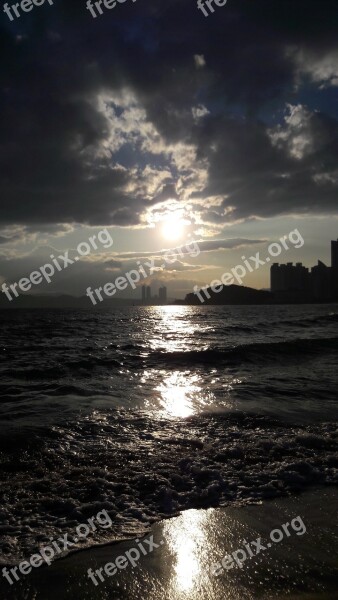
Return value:
[(153, 355), (140, 380), (149, 389), (147, 407), (152, 408), (153, 398), (158, 415), (172, 418), (231, 408), (233, 375), (224, 369), (220, 373), (217, 364), (196, 362), (196, 356), (210, 349), (213, 327), (205, 319), (196, 320), (191, 306), (153, 306), (148, 311), (151, 325), (145, 334)]

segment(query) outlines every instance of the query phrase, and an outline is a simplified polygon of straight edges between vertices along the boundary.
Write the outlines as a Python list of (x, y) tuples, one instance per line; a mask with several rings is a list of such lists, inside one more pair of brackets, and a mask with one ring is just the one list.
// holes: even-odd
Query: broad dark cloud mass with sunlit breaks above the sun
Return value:
[(337, 85), (333, 5), (238, 0), (206, 23), (177, 0), (126, 3), (118, 19), (60, 0), (2, 20), (0, 222), (137, 228), (176, 200), (195, 232), (219, 235), (336, 214), (337, 110), (305, 82)]

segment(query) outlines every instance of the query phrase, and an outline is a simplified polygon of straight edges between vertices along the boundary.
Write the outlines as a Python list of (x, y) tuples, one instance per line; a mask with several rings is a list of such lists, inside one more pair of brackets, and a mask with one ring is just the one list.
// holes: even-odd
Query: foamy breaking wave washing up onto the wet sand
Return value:
[[(188, 508), (245, 504), (337, 484), (337, 423), (232, 413), (168, 421), (105, 411), (13, 430), (0, 446), (2, 562), (106, 509), (110, 540)], [(48, 518), (46, 518), (46, 515)], [(97, 531), (91, 543), (100, 544)]]

